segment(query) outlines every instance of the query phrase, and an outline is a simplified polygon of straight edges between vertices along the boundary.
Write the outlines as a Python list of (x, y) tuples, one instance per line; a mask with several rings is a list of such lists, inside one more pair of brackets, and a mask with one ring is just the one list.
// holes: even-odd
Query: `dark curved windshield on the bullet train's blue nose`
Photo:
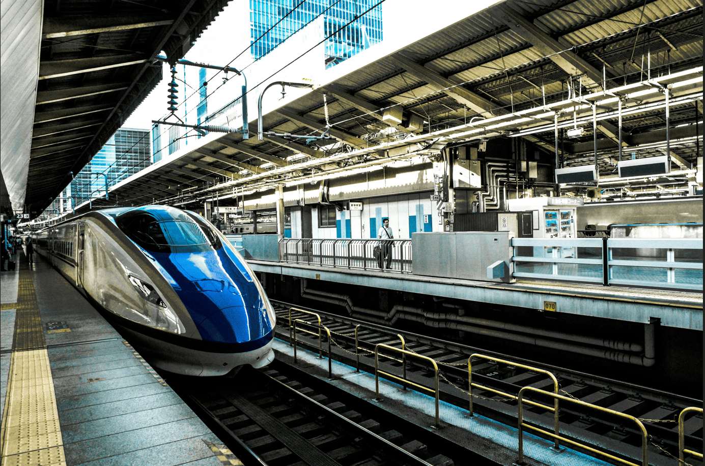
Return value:
[(188, 215), (155, 216), (133, 210), (118, 215), (116, 223), (138, 246), (154, 253), (197, 253), (222, 247), (211, 229)]

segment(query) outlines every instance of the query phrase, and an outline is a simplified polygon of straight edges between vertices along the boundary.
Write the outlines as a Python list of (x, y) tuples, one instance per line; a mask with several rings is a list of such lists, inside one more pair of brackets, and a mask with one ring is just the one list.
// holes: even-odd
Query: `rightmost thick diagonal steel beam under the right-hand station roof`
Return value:
[[(583, 58), (577, 56), (570, 47), (561, 45), (537, 25), (507, 6), (498, 6), (502, 20), (511, 30), (534, 45), (546, 58), (573, 77), (583, 76), (583, 84), (587, 87), (602, 87), (602, 73)], [(566, 50), (568, 49), (568, 50)], [(608, 84), (612, 84), (609, 82)], [(609, 87), (609, 86), (608, 86)]]

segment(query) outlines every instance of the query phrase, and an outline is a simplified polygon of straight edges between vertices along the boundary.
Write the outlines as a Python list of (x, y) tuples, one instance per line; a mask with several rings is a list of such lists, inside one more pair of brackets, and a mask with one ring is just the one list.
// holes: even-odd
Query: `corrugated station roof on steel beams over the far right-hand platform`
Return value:
[[(561, 129), (584, 128), (575, 139), (560, 141), (563, 165), (589, 165), (596, 150), (601, 178), (613, 177), (619, 102), (623, 150), (662, 155), (666, 89), (671, 160), (694, 168), (702, 134), (702, 8), (697, 0), (495, 4), (267, 113), (264, 139), (256, 137), (252, 122), (247, 140), (236, 132), (210, 133), (92, 206), (116, 199), (185, 205), (216, 192), (271, 189), (312, 173), (345, 172), (496, 137), (517, 137), (553, 153), (556, 114)], [(339, 144), (271, 135), (320, 136), (326, 130), (324, 94), (328, 134)], [(99, 149), (90, 147), (84, 157)], [(687, 177), (675, 183), (687, 184)]]

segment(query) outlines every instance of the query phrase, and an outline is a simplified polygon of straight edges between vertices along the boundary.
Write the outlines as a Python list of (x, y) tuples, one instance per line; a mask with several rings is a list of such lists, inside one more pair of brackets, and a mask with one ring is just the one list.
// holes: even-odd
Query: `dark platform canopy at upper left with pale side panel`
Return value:
[(227, 2), (3, 1), (3, 207), (49, 206)]

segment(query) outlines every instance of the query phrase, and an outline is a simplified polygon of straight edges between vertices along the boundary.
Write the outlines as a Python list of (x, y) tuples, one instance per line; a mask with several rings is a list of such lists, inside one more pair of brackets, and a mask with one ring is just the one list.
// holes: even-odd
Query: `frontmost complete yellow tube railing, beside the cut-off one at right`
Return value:
[[(572, 441), (572, 440), (567, 439), (565, 437), (561, 437), (559, 432), (556, 432), (554, 434), (553, 432), (548, 432), (547, 430), (541, 429), (539, 427), (534, 427), (530, 424), (525, 424), (525, 422), (524, 422), (524, 394), (527, 391), (533, 391), (535, 393), (539, 393), (542, 396), (552, 396), (556, 400), (556, 402), (558, 402), (558, 400), (567, 401), (569, 403), (580, 405), (584, 408), (597, 410), (600, 413), (615, 415), (616, 417), (621, 417), (624, 420), (629, 420), (631, 422), (634, 422), (635, 424), (637, 424), (637, 427), (642, 432), (642, 466), (649, 466), (649, 443), (647, 440), (648, 434), (646, 434), (646, 427), (644, 427), (644, 424), (642, 424), (642, 422), (639, 421), (636, 417), (630, 416), (630, 415), (627, 415), (624, 413), (620, 413), (618, 411), (611, 410), (608, 408), (602, 408), (601, 406), (591, 405), (590, 403), (585, 403), (584, 401), (575, 400), (573, 398), (568, 398), (567, 396), (558, 395), (558, 393), (551, 393), (550, 391), (534, 389), (534, 387), (532, 387), (532, 386), (525, 386), (524, 388), (522, 388), (519, 391), (519, 397), (518, 397), (518, 400), (519, 400), (519, 459), (517, 460), (517, 463), (521, 464), (524, 461), (524, 429), (532, 429), (536, 432), (541, 432), (542, 434), (544, 434), (546, 436), (549, 436), (553, 439), (556, 439), (556, 445), (558, 445), (558, 441), (562, 441), (563, 443), (570, 443), (571, 445), (580, 447), (580, 448), (587, 450), (591, 453), (596, 453), (597, 455), (601, 455), (605, 458), (609, 458), (615, 462), (620, 462), (623, 465), (639, 466), (635, 462), (623, 460), (622, 458), (618, 458), (617, 456), (610, 455), (609, 453), (605, 453), (603, 451), (597, 450), (596, 448), (592, 448), (591, 446), (587, 446), (584, 443), (578, 443), (576, 441)], [(556, 403), (556, 406), (558, 406), (558, 403)]]

